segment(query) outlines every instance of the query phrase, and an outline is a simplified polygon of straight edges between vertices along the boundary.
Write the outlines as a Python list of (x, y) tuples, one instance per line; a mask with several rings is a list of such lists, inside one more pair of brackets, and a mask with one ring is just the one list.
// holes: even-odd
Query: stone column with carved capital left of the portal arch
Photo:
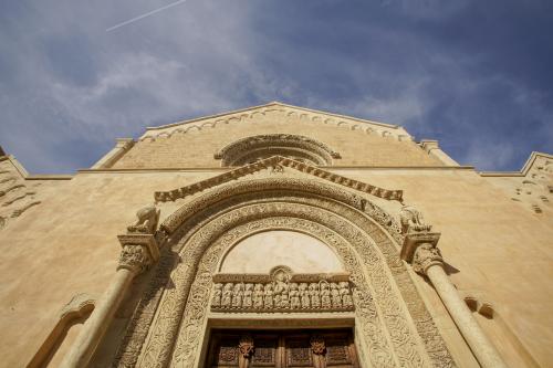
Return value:
[(61, 364), (63, 368), (82, 368), (88, 365), (133, 278), (159, 259), (159, 250), (153, 234), (126, 234), (119, 235), (118, 239), (123, 250), (117, 271), (71, 350), (65, 355)]

